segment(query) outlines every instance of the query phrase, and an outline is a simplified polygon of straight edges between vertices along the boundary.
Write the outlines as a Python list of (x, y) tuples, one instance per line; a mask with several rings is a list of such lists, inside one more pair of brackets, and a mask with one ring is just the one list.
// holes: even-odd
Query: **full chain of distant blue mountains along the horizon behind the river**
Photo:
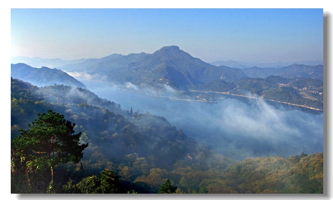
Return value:
[[(100, 74), (110, 82), (122, 84), (131, 82), (138, 86), (149, 85), (153, 87), (167, 84), (176, 89), (188, 89), (196, 85), (216, 82), (219, 79), (232, 82), (246, 77), (266, 78), (270, 75), (284, 78), (314, 78), (323, 81), (323, 65), (320, 65), (322, 62), (319, 61), (304, 61), (297, 64), (261, 63), (262, 65), (256, 66), (255, 64), (260, 63), (217, 61), (208, 64), (199, 58), (192, 57), (174, 45), (164, 46), (152, 54), (144, 52), (128, 55), (111, 54), (100, 59), (74, 61), (40, 58), (28, 61), (26, 57), (15, 57), (12, 59), (12, 64), (15, 64), (15, 61), (26, 61), (28, 63), (40, 61), (44, 62), (42, 66), (60, 68), (63, 71)], [(47, 65), (48, 63), (50, 63), (50, 66)], [(38, 66), (41, 66), (41, 64)]]

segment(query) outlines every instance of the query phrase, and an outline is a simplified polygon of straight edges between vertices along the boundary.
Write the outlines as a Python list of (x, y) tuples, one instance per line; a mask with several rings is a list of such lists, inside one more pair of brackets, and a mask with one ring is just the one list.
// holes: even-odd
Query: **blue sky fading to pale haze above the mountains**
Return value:
[(323, 9), (11, 9), (11, 56), (73, 60), (167, 45), (205, 62), (323, 60)]

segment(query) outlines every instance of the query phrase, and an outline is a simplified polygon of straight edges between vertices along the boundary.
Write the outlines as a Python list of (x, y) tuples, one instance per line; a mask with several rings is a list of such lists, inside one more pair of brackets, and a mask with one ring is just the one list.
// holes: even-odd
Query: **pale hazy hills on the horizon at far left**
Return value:
[(47, 59), (47, 58), (29, 58), (25, 56), (12, 57), (11, 64), (25, 63), (31, 67), (52, 67), (52, 68), (60, 68), (63, 65), (67, 64), (75, 64), (82, 63), (88, 59), (83, 58), (79, 60), (62, 60), (60, 58), (55, 59)]

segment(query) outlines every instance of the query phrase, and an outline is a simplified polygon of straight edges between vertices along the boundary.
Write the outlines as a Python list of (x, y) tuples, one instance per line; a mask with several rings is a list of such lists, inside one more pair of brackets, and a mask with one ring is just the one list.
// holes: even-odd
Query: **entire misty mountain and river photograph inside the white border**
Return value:
[(322, 12), (11, 9), (11, 193), (324, 194)]

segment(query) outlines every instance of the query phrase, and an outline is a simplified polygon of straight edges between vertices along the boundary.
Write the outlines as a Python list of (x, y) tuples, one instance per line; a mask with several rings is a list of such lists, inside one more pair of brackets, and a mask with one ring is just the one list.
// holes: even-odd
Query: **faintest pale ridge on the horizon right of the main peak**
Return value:
[(240, 61), (215, 61), (211, 62), (211, 65), (215, 66), (228, 66), (228, 67), (235, 67), (235, 68), (249, 68), (249, 67), (285, 67), (285, 66), (290, 66), (292, 64), (300, 64), (300, 65), (309, 65), (309, 66), (314, 66), (314, 65), (323, 65), (323, 61), (296, 61), (296, 62), (271, 62), (271, 63), (260, 63), (260, 62), (240, 62)]

